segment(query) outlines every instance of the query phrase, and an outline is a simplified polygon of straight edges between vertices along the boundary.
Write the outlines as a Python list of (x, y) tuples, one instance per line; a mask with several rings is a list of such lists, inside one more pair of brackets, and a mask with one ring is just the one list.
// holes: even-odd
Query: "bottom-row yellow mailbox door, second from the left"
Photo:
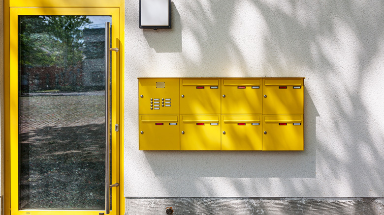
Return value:
[(220, 115), (180, 117), (180, 150), (221, 150)]

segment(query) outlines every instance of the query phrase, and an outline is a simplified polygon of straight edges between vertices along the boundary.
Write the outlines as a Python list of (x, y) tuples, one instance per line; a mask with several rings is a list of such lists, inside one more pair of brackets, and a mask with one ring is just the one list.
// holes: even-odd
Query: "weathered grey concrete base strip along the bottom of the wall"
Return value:
[(126, 198), (126, 215), (384, 215), (384, 198)]

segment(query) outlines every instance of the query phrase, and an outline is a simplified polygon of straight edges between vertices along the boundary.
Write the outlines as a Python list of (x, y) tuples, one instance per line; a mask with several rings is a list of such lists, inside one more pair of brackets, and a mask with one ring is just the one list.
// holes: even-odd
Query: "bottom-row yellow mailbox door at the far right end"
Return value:
[(304, 115), (263, 115), (262, 150), (304, 150)]

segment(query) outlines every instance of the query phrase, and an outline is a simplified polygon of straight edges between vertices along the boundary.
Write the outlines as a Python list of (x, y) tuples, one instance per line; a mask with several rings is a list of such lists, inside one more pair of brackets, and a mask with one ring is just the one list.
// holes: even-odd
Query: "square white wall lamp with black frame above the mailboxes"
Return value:
[(139, 27), (171, 28), (171, 0), (140, 0)]

